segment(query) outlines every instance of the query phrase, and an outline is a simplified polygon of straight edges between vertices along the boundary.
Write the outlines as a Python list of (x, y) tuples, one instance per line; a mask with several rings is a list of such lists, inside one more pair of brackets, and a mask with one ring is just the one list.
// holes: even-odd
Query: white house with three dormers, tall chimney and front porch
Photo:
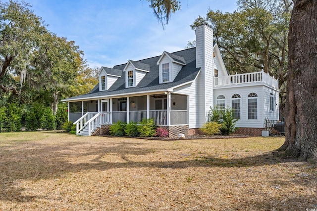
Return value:
[(91, 92), (62, 100), (77, 134), (105, 133), (119, 120), (153, 118), (170, 137), (193, 135), (217, 106), (234, 110), (238, 132), (261, 135), (265, 118), (279, 119), (278, 81), (263, 71), (228, 75), (212, 40), (211, 28), (202, 25), (195, 48), (102, 67)]

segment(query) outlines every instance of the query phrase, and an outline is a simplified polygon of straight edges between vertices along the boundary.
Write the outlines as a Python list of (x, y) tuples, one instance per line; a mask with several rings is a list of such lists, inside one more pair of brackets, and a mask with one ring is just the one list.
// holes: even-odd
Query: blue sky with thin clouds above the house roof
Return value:
[[(48, 29), (84, 51), (91, 68), (175, 52), (195, 40), (190, 24), (207, 11), (232, 12), (236, 0), (181, 0), (165, 30), (146, 0), (25, 0)], [(198, 3), (197, 3), (198, 2)]]

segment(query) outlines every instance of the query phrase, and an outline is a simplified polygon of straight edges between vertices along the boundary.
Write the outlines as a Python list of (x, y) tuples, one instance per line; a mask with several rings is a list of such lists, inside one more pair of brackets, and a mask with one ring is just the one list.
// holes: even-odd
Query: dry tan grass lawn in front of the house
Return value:
[(1, 133), (0, 211), (317, 209), (317, 170), (284, 141)]

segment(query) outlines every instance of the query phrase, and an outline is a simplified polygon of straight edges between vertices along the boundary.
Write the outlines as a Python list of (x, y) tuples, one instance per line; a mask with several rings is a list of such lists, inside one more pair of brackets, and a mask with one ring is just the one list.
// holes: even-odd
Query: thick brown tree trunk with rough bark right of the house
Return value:
[(296, 0), (290, 20), (285, 109), (288, 155), (317, 163), (317, 1)]

